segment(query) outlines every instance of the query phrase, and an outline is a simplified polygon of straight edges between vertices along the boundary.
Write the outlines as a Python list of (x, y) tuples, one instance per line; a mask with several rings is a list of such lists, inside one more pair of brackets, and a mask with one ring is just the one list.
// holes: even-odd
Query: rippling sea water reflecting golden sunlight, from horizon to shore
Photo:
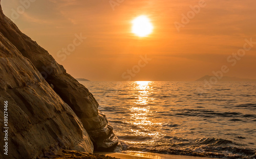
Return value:
[(256, 82), (80, 82), (125, 151), (256, 158)]

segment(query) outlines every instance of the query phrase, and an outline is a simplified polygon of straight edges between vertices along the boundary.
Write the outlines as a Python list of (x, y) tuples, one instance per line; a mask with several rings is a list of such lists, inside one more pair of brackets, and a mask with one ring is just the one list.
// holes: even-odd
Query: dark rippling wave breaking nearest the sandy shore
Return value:
[[(121, 144), (123, 145), (124, 150), (131, 151), (219, 158), (253, 159), (256, 156), (255, 150), (243, 148), (242, 145), (225, 139), (201, 138), (195, 140), (187, 140), (169, 137), (165, 138), (165, 141), (166, 139), (169, 139), (169, 142), (163, 142), (164, 140), (160, 140), (150, 144), (143, 144), (137, 142), (129, 142), (126, 140), (124, 141), (123, 139), (125, 138), (121, 138)], [(132, 140), (132, 138), (133, 137), (128, 139)], [(143, 139), (141, 137), (137, 138)]]

